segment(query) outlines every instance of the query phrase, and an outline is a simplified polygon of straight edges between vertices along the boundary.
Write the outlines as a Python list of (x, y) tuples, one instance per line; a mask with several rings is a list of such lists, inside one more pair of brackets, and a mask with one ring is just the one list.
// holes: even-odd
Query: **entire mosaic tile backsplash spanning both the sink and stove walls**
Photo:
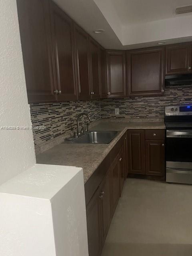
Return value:
[[(69, 101), (59, 103), (30, 104), (33, 126), (46, 126), (45, 130), (33, 130), (34, 144), (52, 140), (61, 134), (76, 130), (78, 114), (86, 112), (91, 122), (100, 118), (115, 118), (115, 108), (119, 108), (120, 118), (164, 118), (167, 105), (192, 103), (192, 86), (169, 86), (161, 97), (130, 97)], [(80, 120), (86, 124), (87, 118)]]

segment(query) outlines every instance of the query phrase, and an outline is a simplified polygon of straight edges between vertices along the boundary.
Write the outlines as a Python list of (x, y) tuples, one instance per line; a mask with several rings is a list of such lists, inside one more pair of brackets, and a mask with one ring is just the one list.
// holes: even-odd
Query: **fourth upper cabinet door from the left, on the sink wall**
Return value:
[(100, 98), (100, 50), (98, 44), (90, 38), (90, 83), (91, 98)]

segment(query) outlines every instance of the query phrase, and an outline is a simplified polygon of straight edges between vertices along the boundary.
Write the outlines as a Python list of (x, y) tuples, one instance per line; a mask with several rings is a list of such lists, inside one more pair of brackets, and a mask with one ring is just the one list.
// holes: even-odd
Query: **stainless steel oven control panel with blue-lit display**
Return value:
[(177, 106), (166, 106), (166, 116), (188, 116), (192, 115), (192, 104), (189, 105), (177, 105)]

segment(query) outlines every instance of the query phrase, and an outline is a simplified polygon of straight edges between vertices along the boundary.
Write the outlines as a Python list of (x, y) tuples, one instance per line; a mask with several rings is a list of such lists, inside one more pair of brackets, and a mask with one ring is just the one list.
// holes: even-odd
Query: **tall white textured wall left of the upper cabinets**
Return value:
[[(0, 127), (30, 123), (16, 0), (0, 0)], [(34, 164), (32, 130), (0, 130), (0, 184)]]

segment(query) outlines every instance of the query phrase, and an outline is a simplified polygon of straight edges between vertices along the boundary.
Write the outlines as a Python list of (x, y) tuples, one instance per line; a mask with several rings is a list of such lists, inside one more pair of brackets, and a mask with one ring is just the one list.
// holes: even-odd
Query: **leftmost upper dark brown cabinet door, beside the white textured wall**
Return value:
[(49, 4), (17, 0), (28, 102), (56, 101)]

